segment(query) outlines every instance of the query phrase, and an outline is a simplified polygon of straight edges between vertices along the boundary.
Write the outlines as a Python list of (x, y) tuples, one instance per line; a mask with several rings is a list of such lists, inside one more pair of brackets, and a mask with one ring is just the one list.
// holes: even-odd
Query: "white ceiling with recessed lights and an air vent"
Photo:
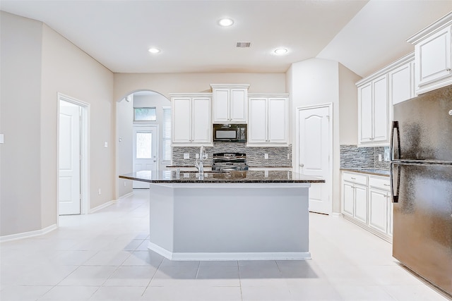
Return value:
[[(0, 8), (46, 23), (114, 73), (285, 73), (319, 57), (366, 76), (412, 51), (406, 39), (452, 1), (1, 0)], [(232, 27), (217, 25), (225, 16)], [(277, 47), (289, 53), (275, 56)]]

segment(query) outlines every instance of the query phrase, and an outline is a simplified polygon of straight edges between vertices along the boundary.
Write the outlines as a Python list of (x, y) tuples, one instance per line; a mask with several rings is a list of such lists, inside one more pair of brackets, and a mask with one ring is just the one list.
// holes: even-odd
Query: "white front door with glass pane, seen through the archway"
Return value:
[[(133, 126), (133, 172), (157, 171), (157, 126)], [(133, 181), (133, 188), (149, 188), (149, 183)]]

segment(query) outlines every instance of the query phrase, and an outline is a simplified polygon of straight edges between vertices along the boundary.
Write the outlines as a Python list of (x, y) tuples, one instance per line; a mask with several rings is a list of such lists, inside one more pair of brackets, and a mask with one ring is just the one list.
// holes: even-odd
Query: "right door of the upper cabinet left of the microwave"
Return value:
[(210, 121), (210, 98), (194, 98), (192, 102), (192, 142), (211, 142), (212, 123)]

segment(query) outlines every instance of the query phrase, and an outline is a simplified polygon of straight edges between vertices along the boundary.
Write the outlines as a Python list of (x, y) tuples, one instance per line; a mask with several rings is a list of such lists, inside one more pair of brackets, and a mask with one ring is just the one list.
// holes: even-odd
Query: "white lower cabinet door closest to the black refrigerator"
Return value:
[(386, 233), (388, 226), (388, 192), (369, 190), (369, 226)]

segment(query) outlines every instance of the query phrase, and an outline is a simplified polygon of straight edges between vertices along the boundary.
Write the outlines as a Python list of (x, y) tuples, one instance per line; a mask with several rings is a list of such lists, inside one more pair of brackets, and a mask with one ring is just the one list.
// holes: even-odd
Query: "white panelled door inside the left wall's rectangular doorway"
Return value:
[(59, 215), (81, 214), (81, 107), (60, 101)]

